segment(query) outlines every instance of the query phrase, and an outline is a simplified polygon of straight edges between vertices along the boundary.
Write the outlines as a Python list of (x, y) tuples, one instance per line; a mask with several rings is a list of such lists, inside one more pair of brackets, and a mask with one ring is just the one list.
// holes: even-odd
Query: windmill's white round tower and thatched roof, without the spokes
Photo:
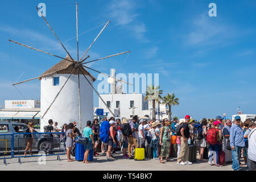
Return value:
[[(65, 59), (70, 59), (69, 56)], [(41, 117), (51, 105), (52, 101), (60, 91), (61, 87), (67, 81), (69, 75), (71, 75), (75, 64), (61, 60), (54, 65), (48, 71), (44, 72), (40, 76), (41, 81)], [(86, 78), (91, 84), (96, 80), (88, 71), (80, 67)], [(64, 123), (77, 122), (77, 128), (80, 129), (79, 124), (79, 96), (78, 96), (78, 71), (72, 73), (72, 76), (67, 81), (67, 84), (61, 90), (59, 96), (53, 102), (50, 109), (41, 118), (40, 131), (43, 132), (43, 127), (48, 125), (48, 119), (52, 119), (53, 122), (58, 122), (58, 128), (60, 129)], [(80, 92), (81, 92), (81, 129), (86, 127), (88, 120), (93, 120), (93, 88), (89, 85), (88, 81), (80, 72)]]

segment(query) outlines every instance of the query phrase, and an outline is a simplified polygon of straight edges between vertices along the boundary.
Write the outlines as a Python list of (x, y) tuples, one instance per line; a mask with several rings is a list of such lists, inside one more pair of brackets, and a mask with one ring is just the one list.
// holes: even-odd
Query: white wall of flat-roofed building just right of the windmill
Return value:
[[(146, 101), (144, 101), (144, 97), (142, 94), (101, 94), (102, 99), (107, 102), (110, 101), (110, 109), (114, 112), (114, 109), (118, 109), (115, 107), (115, 101), (120, 102), (120, 117), (130, 118), (130, 115), (133, 115), (133, 109), (130, 108), (130, 101), (134, 101), (134, 115), (145, 115), (145, 111), (142, 111), (146, 107)], [(104, 103), (99, 99), (99, 108), (104, 109), (104, 112), (109, 112)], [(150, 115), (150, 111), (146, 111), (146, 114)], [(112, 114), (109, 113), (109, 116)]]

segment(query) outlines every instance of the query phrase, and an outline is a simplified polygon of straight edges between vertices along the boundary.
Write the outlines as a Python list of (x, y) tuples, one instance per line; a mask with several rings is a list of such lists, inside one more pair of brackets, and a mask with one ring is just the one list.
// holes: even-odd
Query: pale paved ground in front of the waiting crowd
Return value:
[[(178, 170), (178, 171), (230, 171), (231, 165), (225, 165), (222, 167), (209, 166), (208, 162), (200, 162), (197, 160), (191, 166), (177, 165), (176, 158), (171, 158), (171, 162), (161, 164), (160, 160), (146, 159), (143, 161), (134, 161), (129, 159), (123, 159), (122, 154), (117, 152), (113, 155), (114, 161), (106, 160), (105, 155), (94, 158), (94, 162), (90, 164), (84, 164), (82, 162), (67, 162), (67, 155), (60, 156), (61, 161), (56, 160), (57, 156), (46, 156), (46, 164), (38, 164), (39, 157), (34, 158), (21, 158), (22, 164), (19, 164), (18, 158), (7, 159), (7, 165), (0, 160), (0, 170), (110, 170), (110, 171), (147, 171), (147, 170)], [(198, 156), (197, 156), (198, 158)], [(242, 167), (242, 170), (246, 170), (246, 167)]]

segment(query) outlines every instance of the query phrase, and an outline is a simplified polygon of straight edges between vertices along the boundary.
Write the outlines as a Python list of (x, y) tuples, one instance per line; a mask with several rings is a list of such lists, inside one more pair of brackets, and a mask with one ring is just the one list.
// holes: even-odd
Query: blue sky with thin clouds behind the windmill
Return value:
[[(60, 61), (7, 39), (65, 56), (63, 48), (37, 15), (46, 3), (49, 24), (76, 57), (75, 2), (3, 1), (0, 14), (0, 105), (5, 100), (40, 98), (38, 80), (17, 86), (12, 82), (39, 76)], [(159, 85), (175, 93), (180, 106), (172, 112), (196, 119), (256, 113), (256, 2), (255, 1), (78, 1), (80, 53), (85, 52), (109, 19), (111, 23), (90, 49), (90, 60), (130, 50), (131, 54), (105, 59), (90, 66), (110, 74), (159, 73)], [(217, 17), (209, 17), (209, 3)], [(11, 52), (11, 53), (10, 53)], [(80, 56), (81, 57), (81, 56)], [(127, 59), (126, 59), (127, 58)], [(91, 71), (97, 78), (97, 73)], [(21, 77), (20, 77), (21, 76)], [(99, 81), (94, 82), (97, 88)], [(98, 99), (94, 94), (94, 105)]]

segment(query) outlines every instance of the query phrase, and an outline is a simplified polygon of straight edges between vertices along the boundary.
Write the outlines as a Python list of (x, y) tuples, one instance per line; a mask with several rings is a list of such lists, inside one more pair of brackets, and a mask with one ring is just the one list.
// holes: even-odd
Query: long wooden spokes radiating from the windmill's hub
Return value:
[[(37, 78), (41, 79), (42, 77), (44, 76), (50, 76), (52, 75), (53, 73), (57, 73), (57, 72), (63, 72), (64, 70), (67, 71), (67, 69), (69, 69), (69, 76), (67, 77), (67, 79), (65, 80), (64, 84), (61, 86), (60, 90), (58, 92), (56, 92), (56, 96), (53, 97), (52, 101), (50, 102), (50, 104), (47, 106), (46, 110), (43, 112), (43, 115), (41, 117), (41, 119), (43, 119), (46, 114), (48, 113), (48, 111), (51, 109), (53, 103), (56, 101), (56, 99), (59, 97), (61, 91), (64, 89), (65, 85), (67, 85), (67, 82), (69, 79), (71, 79), (71, 76), (73, 75), (77, 75), (77, 79), (78, 79), (78, 84), (77, 84), (77, 91), (78, 91), (78, 101), (79, 101), (79, 123), (80, 123), (80, 130), (82, 129), (82, 121), (81, 121), (81, 91), (80, 91), (80, 82), (82, 81), (80, 79), (80, 75), (84, 76), (86, 82), (88, 83), (88, 85), (90, 85), (92, 87), (92, 89), (96, 92), (96, 94), (98, 95), (98, 97), (101, 99), (102, 102), (104, 102), (104, 104), (106, 105), (106, 107), (108, 108), (108, 110), (110, 111), (110, 113), (114, 116), (114, 113), (112, 112), (112, 110), (110, 110), (110, 108), (108, 107), (108, 105), (105, 103), (105, 101), (101, 98), (100, 94), (97, 92), (97, 90), (93, 87), (93, 83), (89, 80), (88, 77), (86, 77), (85, 75), (89, 75), (90, 77), (94, 78), (92, 75), (90, 75), (90, 73), (88, 71), (86, 71), (86, 69), (90, 69), (94, 72), (97, 72), (97, 73), (101, 73), (101, 74), (104, 74), (108, 77), (111, 77), (109, 75), (107, 75), (106, 73), (102, 73), (102, 72), (99, 72), (97, 71), (96, 69), (93, 69), (93, 68), (89, 68), (88, 66), (86, 66), (86, 64), (88, 63), (92, 63), (94, 61), (99, 61), (99, 60), (103, 60), (103, 59), (107, 59), (109, 57), (114, 57), (114, 56), (118, 56), (118, 55), (122, 55), (122, 54), (125, 54), (125, 53), (129, 53), (130, 51), (126, 51), (126, 52), (121, 52), (121, 53), (116, 53), (114, 55), (110, 55), (110, 56), (106, 56), (106, 57), (101, 57), (99, 59), (96, 59), (96, 60), (92, 60), (92, 61), (86, 61), (86, 59), (88, 59), (90, 56), (87, 55), (90, 48), (93, 46), (93, 44), (96, 42), (96, 40), (98, 39), (98, 37), (101, 35), (102, 31), (104, 31), (104, 29), (106, 28), (106, 26), (108, 26), (108, 24), (110, 23), (110, 20), (105, 24), (105, 26), (102, 28), (102, 30), (100, 31), (100, 33), (96, 36), (96, 38), (93, 40), (93, 42), (90, 44), (90, 46), (88, 47), (88, 49), (86, 49), (84, 55), (82, 55), (82, 57), (80, 58), (79, 57), (79, 34), (78, 34), (78, 7), (77, 7), (77, 2), (76, 2), (76, 39), (77, 39), (77, 60), (74, 60), (72, 58), (72, 56), (69, 54), (69, 52), (67, 51), (67, 49), (64, 47), (63, 43), (61, 43), (60, 39), (57, 37), (57, 35), (55, 34), (55, 32), (53, 31), (53, 29), (51, 28), (51, 26), (49, 25), (49, 23), (47, 22), (46, 18), (43, 16), (43, 14), (40, 12), (40, 10), (38, 9), (38, 7), (36, 7), (36, 9), (38, 10), (39, 14), (42, 16), (44, 22), (46, 22), (47, 26), (49, 27), (49, 29), (52, 31), (53, 35), (55, 36), (55, 38), (59, 41), (59, 43), (61, 44), (61, 47), (63, 47), (63, 49), (65, 50), (65, 52), (67, 52), (67, 56), (66, 57), (61, 57), (61, 56), (57, 56), (57, 55), (54, 55), (52, 53), (49, 53), (49, 52), (46, 52), (46, 51), (42, 51), (38, 48), (34, 48), (34, 47), (31, 47), (31, 46), (27, 46), (26, 44), (22, 44), (22, 43), (19, 43), (19, 42), (15, 42), (14, 40), (10, 40), (9, 39), (9, 42), (13, 42), (15, 44), (19, 44), (20, 46), (24, 46), (24, 47), (27, 47), (27, 48), (30, 48), (30, 49), (34, 49), (36, 51), (40, 51), (40, 52), (43, 52), (43, 53), (46, 53), (48, 55), (51, 55), (51, 56), (55, 56), (55, 57), (58, 57), (60, 59), (63, 59), (62, 61), (60, 61), (59, 64), (59, 67), (61, 67), (62, 69), (58, 69), (56, 68), (57, 65), (55, 65), (55, 67), (52, 67), (51, 69), (54, 69), (53, 72), (51, 72), (51, 69), (49, 69), (47, 72), (43, 73), (43, 75), (40, 75), (38, 77), (35, 77), (35, 78), (31, 78), (31, 79), (28, 79), (28, 80), (25, 80), (25, 81), (21, 81), (21, 82), (17, 82), (15, 84), (13, 84), (13, 86), (15, 85), (18, 85), (18, 84), (22, 84), (24, 82), (27, 82), (27, 81), (31, 81), (31, 80), (35, 80)], [(67, 73), (67, 72), (65, 72)], [(94, 78), (95, 79), (95, 78)], [(93, 79), (93, 81), (94, 81)], [(115, 79), (115, 78), (114, 78)], [(83, 80), (83, 81), (85, 81)], [(115, 80), (118, 80), (118, 81), (122, 81), (122, 80), (119, 80), (119, 79), (115, 79)], [(122, 81), (122, 82), (125, 82), (125, 81)], [(125, 82), (126, 84), (129, 84), (127, 82)]]

